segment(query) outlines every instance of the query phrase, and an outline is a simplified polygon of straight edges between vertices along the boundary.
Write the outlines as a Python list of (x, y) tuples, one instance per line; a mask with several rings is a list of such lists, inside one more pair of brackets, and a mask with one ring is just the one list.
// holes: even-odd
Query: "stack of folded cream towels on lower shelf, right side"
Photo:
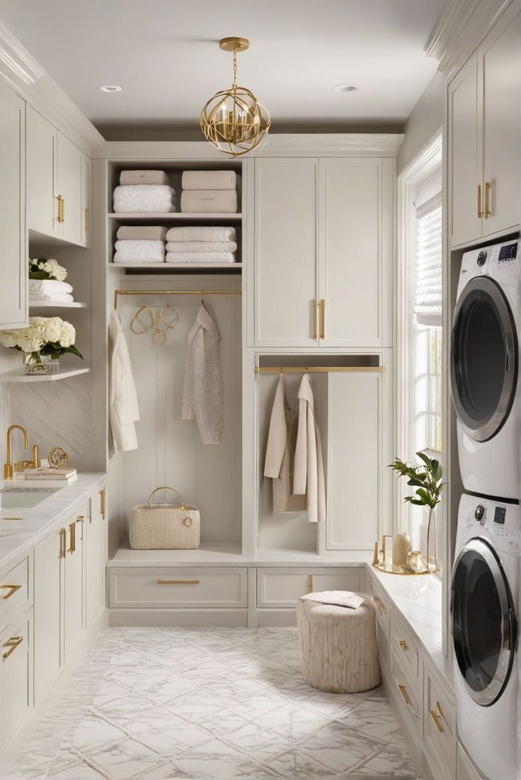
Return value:
[(170, 228), (166, 234), (167, 263), (235, 263), (235, 228), (214, 225)]

